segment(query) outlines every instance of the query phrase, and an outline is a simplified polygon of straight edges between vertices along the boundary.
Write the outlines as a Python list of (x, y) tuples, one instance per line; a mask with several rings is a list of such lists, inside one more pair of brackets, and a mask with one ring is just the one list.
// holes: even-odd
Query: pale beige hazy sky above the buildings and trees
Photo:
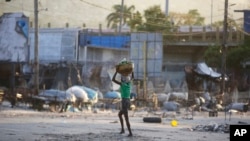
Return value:
[[(33, 20), (34, 0), (0, 0), (0, 14), (8, 12), (23, 12)], [(112, 6), (121, 4), (122, 0), (40, 0), (39, 25), (46, 27), (82, 27), (98, 28), (102, 24), (106, 28), (106, 17), (112, 12)], [(225, 0), (169, 0), (169, 12), (187, 13), (190, 9), (197, 9), (205, 17), (206, 24), (211, 21), (222, 21), (224, 17)], [(143, 11), (151, 6), (160, 5), (165, 11), (166, 0), (124, 0), (127, 6), (134, 5), (136, 10)], [(229, 17), (239, 19), (243, 13), (234, 10), (250, 8), (250, 0), (229, 0)], [(46, 10), (47, 9), (47, 10)]]

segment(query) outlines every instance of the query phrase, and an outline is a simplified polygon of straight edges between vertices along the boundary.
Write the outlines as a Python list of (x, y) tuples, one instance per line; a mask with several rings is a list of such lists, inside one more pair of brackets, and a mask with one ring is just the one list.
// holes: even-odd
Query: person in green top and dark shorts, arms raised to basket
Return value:
[(122, 118), (122, 115), (124, 115), (127, 128), (129, 131), (128, 136), (131, 137), (133, 136), (133, 134), (130, 128), (130, 123), (129, 123), (129, 118), (128, 118), (128, 109), (130, 108), (130, 94), (131, 94), (131, 89), (132, 89), (132, 81), (134, 79), (134, 72), (131, 73), (131, 77), (121, 75), (121, 81), (116, 80), (116, 75), (117, 75), (117, 71), (115, 72), (112, 78), (112, 81), (120, 85), (120, 92), (121, 92), (121, 98), (122, 98), (122, 107), (118, 113), (118, 117), (121, 123), (120, 134), (125, 133), (124, 125), (123, 125), (123, 118)]

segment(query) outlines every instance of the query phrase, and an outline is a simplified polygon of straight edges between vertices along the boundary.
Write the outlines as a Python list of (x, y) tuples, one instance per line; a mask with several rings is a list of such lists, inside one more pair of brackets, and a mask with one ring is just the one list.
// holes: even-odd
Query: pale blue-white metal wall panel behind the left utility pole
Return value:
[[(77, 61), (79, 29), (39, 29), (41, 62)], [(34, 32), (30, 33), (30, 60), (34, 60)]]

